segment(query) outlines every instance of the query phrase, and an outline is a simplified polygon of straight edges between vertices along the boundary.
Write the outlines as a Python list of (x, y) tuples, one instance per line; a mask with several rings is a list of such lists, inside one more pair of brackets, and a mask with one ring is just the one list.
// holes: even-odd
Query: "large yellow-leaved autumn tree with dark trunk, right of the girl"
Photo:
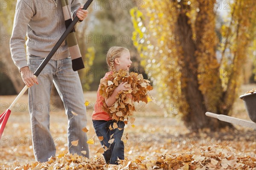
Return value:
[[(226, 2), (152, 0), (145, 1), (143, 10), (131, 10), (134, 35), (145, 42), (136, 44), (141, 63), (163, 108), (180, 116), (190, 130), (227, 125), (205, 112), (232, 111), (255, 40), (255, 2)], [(230, 20), (219, 30), (217, 8), (230, 9)]]

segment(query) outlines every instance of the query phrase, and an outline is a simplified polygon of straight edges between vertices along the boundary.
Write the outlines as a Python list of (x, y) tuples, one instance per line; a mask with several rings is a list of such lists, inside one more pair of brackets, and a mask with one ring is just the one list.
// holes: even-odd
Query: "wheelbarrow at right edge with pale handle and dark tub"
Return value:
[(253, 122), (243, 120), (243, 119), (238, 119), (231, 116), (226, 116), (223, 114), (215, 114), (211, 112), (206, 112), (205, 115), (219, 119), (224, 122), (229, 122), (229, 123), (233, 123), (233, 124), (244, 126), (244, 127), (250, 127), (253, 130), (256, 130), (256, 92), (241, 95), (239, 96), (239, 98), (244, 101), (247, 114)]

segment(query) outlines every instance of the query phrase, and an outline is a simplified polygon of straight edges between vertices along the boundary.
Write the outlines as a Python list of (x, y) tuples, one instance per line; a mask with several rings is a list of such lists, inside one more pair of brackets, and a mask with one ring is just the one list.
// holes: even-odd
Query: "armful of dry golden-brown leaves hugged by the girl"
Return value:
[(108, 98), (121, 82), (127, 82), (125, 86), (129, 90), (120, 91), (116, 95), (116, 102), (111, 107), (108, 107), (105, 100), (103, 100), (103, 109), (116, 121), (124, 121), (124, 119), (129, 121), (130, 118), (130, 122), (133, 123), (135, 119), (131, 116), (136, 111), (134, 102), (142, 101), (148, 103), (152, 99), (148, 91), (151, 91), (153, 87), (150, 85), (149, 80), (143, 79), (142, 74), (119, 70), (118, 72), (113, 72), (107, 79), (100, 80), (99, 94), (104, 98)]

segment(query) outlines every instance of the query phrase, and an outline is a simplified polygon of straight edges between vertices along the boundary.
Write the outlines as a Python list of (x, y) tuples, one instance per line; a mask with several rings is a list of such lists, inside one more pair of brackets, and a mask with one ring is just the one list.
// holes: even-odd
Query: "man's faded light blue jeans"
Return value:
[[(32, 72), (38, 68), (44, 58), (29, 57), (28, 64)], [(54, 83), (64, 103), (65, 113), (68, 119), (67, 138), (70, 153), (81, 153), (86, 150), (89, 158), (86, 133), (82, 131), (86, 127), (86, 107), (84, 95), (77, 71), (72, 70), (71, 58), (50, 60), (41, 74), (38, 76), (39, 85), (29, 88), (29, 113), (32, 128), (32, 143), (36, 161), (47, 161), (55, 156), (54, 140), (49, 129), (50, 92)], [(71, 111), (78, 114), (74, 116)], [(53, 112), (54, 113), (54, 112)], [(60, 111), (55, 114), (62, 114)], [(66, 122), (60, 122), (66, 123)], [(53, 127), (54, 128), (54, 127)], [(55, 138), (60, 136), (54, 136)], [(77, 146), (72, 146), (72, 141), (78, 141)], [(56, 141), (56, 140), (55, 140)]]

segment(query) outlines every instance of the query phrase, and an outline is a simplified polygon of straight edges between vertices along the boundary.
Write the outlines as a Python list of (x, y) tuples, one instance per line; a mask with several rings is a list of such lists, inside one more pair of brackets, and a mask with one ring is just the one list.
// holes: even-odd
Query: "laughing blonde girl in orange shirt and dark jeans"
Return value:
[[(126, 69), (129, 71), (132, 63), (129, 50), (124, 47), (111, 47), (108, 50), (107, 63), (110, 71), (105, 74), (103, 79), (108, 79), (108, 76), (113, 74), (113, 71), (118, 71), (119, 69)], [(103, 137), (101, 144), (104, 145), (105, 148), (108, 148), (108, 150), (105, 150), (103, 153), (107, 164), (118, 164), (118, 158), (121, 160), (124, 159), (124, 143), (121, 141), (121, 138), (125, 123), (122, 121), (116, 122), (112, 120), (109, 114), (103, 110), (102, 101), (105, 100), (107, 106), (111, 107), (116, 102), (115, 96), (120, 91), (129, 90), (129, 88), (125, 87), (126, 84), (127, 82), (120, 83), (119, 86), (115, 88), (111, 96), (109, 96), (107, 99), (104, 99), (102, 96), (100, 96), (100, 87), (97, 91), (96, 104), (94, 105), (94, 112), (92, 115), (93, 127), (99, 139), (101, 140)], [(113, 127), (114, 122), (116, 122), (118, 128), (111, 128)], [(110, 142), (111, 139), (113, 143)]]

